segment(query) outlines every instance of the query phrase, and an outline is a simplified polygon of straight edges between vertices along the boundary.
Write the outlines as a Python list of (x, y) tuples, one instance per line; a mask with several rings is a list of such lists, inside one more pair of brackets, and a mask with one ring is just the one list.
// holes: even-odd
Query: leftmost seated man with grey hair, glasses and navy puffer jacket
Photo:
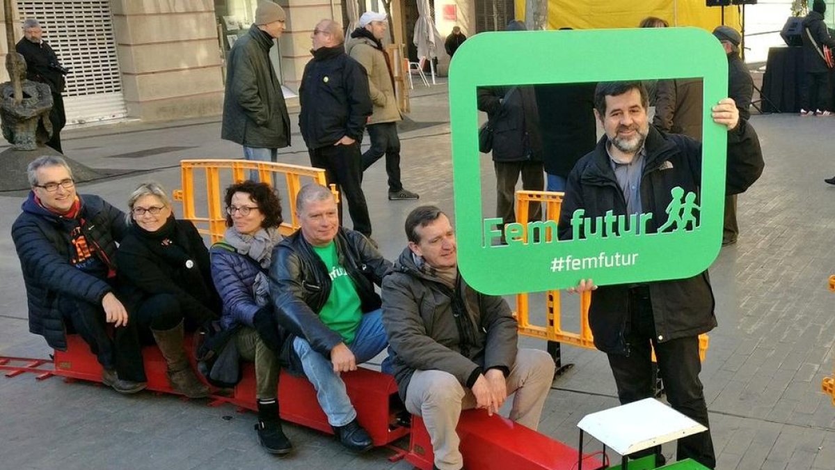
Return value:
[[(116, 283), (116, 243), (124, 213), (98, 196), (78, 195), (67, 162), (41, 156), (27, 168), (32, 191), (12, 225), (29, 309), (29, 331), (56, 350), (77, 332), (119, 393), (145, 388), (135, 319)], [(113, 338), (108, 334), (113, 324)]]

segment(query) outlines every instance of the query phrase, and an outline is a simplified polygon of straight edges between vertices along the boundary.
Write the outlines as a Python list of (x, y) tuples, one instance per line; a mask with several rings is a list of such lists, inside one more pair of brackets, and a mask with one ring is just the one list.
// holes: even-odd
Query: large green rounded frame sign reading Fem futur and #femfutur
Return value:
[[(636, 230), (628, 234), (557, 241), (555, 235), (552, 240), (544, 237), (547, 228), (556, 233), (554, 221), (526, 227), (511, 223), (504, 227), (508, 244), (493, 246), (504, 224), (485, 218), (482, 211), (478, 87), (677, 78), (701, 78), (704, 85), (697, 225), (642, 233), (639, 218), (633, 224)], [(463, 277), (474, 289), (504, 295), (565, 289), (584, 278), (597, 285), (625, 284), (688, 278), (704, 271), (721, 248), (727, 132), (711, 119), (711, 107), (726, 96), (725, 51), (699, 28), (519, 31), (469, 38), (449, 70), (458, 268)], [(682, 207), (696, 195), (672, 197), (678, 207), (668, 211), (683, 214)], [(616, 217), (611, 223), (617, 223)], [(522, 232), (528, 233), (529, 243), (522, 241)]]

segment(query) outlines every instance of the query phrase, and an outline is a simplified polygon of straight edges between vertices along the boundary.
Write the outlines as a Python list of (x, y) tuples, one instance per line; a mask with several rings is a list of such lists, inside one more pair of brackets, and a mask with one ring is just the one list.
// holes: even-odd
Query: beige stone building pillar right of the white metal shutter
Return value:
[(111, 0), (111, 7), (131, 117), (170, 120), (222, 112), (212, 0)]

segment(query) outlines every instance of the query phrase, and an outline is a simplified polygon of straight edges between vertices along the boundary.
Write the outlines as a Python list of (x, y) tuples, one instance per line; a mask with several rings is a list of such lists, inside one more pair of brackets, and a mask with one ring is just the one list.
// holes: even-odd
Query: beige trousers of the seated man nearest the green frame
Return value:
[[(554, 360), (542, 350), (519, 350), (516, 363), (507, 378), (508, 394), (516, 392), (509, 418), (534, 431), (545, 398), (554, 381)], [(432, 448), (435, 466), (441, 470), (463, 467), (458, 450), (461, 442), (455, 428), (462, 410), (476, 405), (475, 396), (454, 375), (443, 370), (415, 370), (406, 391), (406, 409), (423, 417)], [(485, 411), (487, 412), (487, 411)]]

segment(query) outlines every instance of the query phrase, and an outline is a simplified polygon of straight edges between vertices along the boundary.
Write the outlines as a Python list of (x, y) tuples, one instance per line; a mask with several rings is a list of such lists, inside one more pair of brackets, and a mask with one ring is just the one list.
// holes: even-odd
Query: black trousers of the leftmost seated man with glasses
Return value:
[[(110, 338), (104, 309), (100, 304), (90, 304), (72, 297), (63, 297), (58, 302), (64, 321), (72, 324), (73, 330), (90, 346), (90, 351), (96, 355), (102, 367), (115, 369), (119, 378), (126, 381), (147, 381), (137, 322), (129, 318), (127, 326), (114, 328), (113, 338)], [(128, 308), (127, 305), (125, 307)]]

